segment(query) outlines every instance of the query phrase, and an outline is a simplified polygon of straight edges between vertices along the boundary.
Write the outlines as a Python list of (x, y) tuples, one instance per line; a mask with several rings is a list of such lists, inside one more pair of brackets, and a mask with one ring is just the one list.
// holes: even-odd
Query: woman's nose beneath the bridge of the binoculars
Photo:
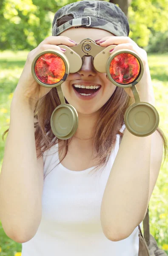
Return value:
[(83, 65), (78, 73), (83, 77), (96, 75), (96, 70), (92, 64), (92, 56), (83, 56)]

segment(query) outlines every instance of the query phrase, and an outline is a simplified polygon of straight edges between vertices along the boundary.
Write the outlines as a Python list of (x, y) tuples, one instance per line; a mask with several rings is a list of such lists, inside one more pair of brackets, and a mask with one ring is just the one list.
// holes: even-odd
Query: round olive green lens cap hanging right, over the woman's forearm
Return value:
[(148, 102), (134, 103), (126, 110), (124, 122), (131, 134), (145, 137), (156, 131), (159, 125), (159, 114)]

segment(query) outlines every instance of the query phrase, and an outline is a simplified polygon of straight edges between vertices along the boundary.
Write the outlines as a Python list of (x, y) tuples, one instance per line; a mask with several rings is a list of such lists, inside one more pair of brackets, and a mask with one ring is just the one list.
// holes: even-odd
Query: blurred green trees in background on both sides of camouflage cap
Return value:
[[(75, 1), (0, 0), (0, 50), (34, 49), (46, 37), (52, 35), (54, 13), (60, 7), (73, 2)], [(149, 40), (156, 33), (160, 32), (163, 35), (168, 31), (168, 0), (115, 0), (113, 2), (125, 13), (128, 9), (129, 37), (140, 47), (148, 46)]]

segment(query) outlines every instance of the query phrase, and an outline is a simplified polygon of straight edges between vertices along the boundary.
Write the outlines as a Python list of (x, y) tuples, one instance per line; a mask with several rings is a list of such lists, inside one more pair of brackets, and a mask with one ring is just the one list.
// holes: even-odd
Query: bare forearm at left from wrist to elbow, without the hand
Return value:
[(20, 243), (35, 235), (41, 221), (42, 160), (37, 162), (34, 106), (13, 98), (0, 173), (0, 219), (6, 235)]

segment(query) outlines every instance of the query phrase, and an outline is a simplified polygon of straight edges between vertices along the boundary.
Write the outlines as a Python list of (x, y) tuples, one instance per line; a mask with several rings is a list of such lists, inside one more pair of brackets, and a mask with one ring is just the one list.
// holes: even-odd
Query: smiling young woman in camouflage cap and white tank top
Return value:
[(28, 53), (11, 102), (0, 175), (0, 219), (6, 234), (22, 243), (22, 256), (138, 256), (138, 225), (159, 175), (163, 145), (166, 155), (163, 132), (157, 128), (137, 137), (125, 128), (125, 111), (134, 102), (131, 89), (97, 72), (90, 56), (62, 84), (79, 123), (73, 137), (60, 140), (50, 125), (60, 105), (57, 88), (41, 86), (31, 73), (37, 54), (64, 53), (60, 44), (71, 47), (85, 38), (103, 47), (116, 44), (113, 52), (131, 49), (142, 59), (136, 87), (141, 101), (155, 105), (147, 54), (128, 35), (119, 7), (84, 0), (59, 9), (52, 36)]

